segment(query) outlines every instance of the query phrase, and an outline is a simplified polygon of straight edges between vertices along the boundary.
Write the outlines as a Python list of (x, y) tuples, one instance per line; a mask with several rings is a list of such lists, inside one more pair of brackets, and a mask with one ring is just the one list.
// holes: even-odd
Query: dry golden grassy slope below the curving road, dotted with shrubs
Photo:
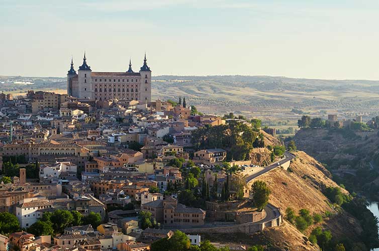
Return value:
[[(322, 225), (331, 230), (334, 236), (355, 239), (361, 232), (358, 221), (348, 213), (344, 211), (338, 213), (329, 206), (330, 202), (320, 191), (324, 185), (338, 186), (329, 178), (330, 173), (319, 162), (304, 152), (297, 152), (295, 156), (296, 158), (290, 166), (293, 170), (292, 173), (283, 169), (275, 169), (257, 179), (265, 181), (270, 187), (270, 203), (280, 207), (283, 214), (287, 207), (292, 207), (297, 212), (302, 208), (310, 210), (311, 213), (320, 214), (330, 211), (334, 215), (325, 219)], [(342, 191), (347, 193), (344, 189)], [(305, 234), (309, 236), (314, 227), (315, 225), (309, 227)], [(299, 245), (299, 240), (304, 237), (288, 222), (285, 223), (283, 228), (271, 228), (266, 232), (277, 242), (280, 242), (285, 237), (290, 244), (283, 243), (283, 245), (290, 246), (292, 242), (293, 246)], [(301, 241), (301, 243), (303, 242)], [(310, 242), (305, 243), (302, 245), (306, 245), (306, 248), (291, 250), (314, 250)], [(282, 247), (285, 248), (285, 246)]]

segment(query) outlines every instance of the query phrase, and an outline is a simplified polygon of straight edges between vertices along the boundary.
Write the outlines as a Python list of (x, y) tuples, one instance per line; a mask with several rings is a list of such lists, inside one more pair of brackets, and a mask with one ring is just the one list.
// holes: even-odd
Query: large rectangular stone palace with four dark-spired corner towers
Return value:
[(126, 72), (95, 72), (87, 65), (85, 53), (83, 64), (76, 73), (71, 59), (67, 73), (67, 93), (73, 97), (94, 100), (125, 99), (151, 102), (151, 70), (146, 63), (146, 54), (139, 72), (132, 70), (131, 61)]

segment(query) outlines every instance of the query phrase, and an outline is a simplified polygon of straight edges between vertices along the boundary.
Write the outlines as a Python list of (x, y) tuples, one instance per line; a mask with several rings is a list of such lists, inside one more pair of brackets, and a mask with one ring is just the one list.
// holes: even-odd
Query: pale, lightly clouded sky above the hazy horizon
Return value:
[(0, 75), (379, 80), (377, 0), (0, 0)]

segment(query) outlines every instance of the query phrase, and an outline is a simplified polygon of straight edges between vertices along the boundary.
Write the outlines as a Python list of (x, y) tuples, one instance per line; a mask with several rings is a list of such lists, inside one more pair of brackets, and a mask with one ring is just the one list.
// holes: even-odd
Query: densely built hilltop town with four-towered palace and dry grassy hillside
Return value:
[(341, 207), (351, 195), (294, 141), (256, 118), (151, 96), (146, 55), (139, 72), (71, 61), (67, 94), (0, 94), (1, 251), (371, 246)]

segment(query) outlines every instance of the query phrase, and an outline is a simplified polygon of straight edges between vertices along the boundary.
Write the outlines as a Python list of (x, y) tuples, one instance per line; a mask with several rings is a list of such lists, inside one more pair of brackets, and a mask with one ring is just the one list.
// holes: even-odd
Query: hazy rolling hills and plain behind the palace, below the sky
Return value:
[[(26, 79), (36, 84), (16, 86), (2, 83), (7, 79)], [(65, 89), (65, 84), (64, 77), (0, 77), (0, 88), (6, 92), (28, 88)], [(185, 96), (188, 104), (209, 113), (233, 111), (247, 116), (280, 116), (292, 108), (309, 112), (367, 112), (379, 108), (379, 81), (238, 75), (155, 76), (152, 85), (153, 98), (178, 99)]]

